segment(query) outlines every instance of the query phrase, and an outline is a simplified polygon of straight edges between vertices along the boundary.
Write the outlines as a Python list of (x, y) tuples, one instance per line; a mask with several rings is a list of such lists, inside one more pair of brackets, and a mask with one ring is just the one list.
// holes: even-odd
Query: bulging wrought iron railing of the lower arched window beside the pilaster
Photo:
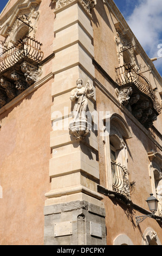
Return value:
[(113, 173), (113, 190), (119, 194), (122, 194), (127, 199), (131, 200), (131, 194), (134, 191), (135, 182), (128, 180), (128, 170), (125, 166), (121, 166), (120, 163), (112, 162)]

